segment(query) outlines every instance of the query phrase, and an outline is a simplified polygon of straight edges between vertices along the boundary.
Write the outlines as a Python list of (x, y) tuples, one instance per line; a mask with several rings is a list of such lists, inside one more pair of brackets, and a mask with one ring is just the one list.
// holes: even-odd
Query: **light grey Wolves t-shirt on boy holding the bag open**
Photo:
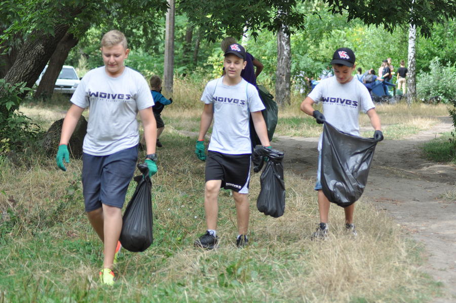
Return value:
[[(310, 92), (315, 103), (323, 102), (323, 115), (326, 121), (339, 131), (359, 136), (359, 112), (375, 108), (367, 88), (355, 77), (345, 84), (337, 82), (336, 77), (320, 81)], [(322, 137), (318, 143), (321, 149)]]

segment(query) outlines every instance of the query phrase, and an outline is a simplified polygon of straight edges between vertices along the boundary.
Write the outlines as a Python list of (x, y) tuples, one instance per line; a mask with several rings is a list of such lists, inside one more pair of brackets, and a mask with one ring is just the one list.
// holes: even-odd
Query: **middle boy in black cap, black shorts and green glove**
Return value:
[(255, 131), (263, 146), (270, 147), (266, 124), (261, 113), (264, 105), (256, 88), (242, 79), (241, 71), (246, 66), (246, 52), (239, 44), (230, 45), (224, 54), (225, 75), (210, 81), (204, 89), (204, 102), (200, 132), (195, 153), (205, 161), (204, 137), (212, 119), (211, 141), (205, 172), (204, 210), (206, 234), (195, 241), (196, 247), (214, 248), (218, 243), (217, 216), (220, 187), (232, 190), (237, 212), (238, 237), (236, 245), (247, 245), (249, 224), (249, 201), (247, 198), (250, 179), (249, 116), (252, 116)]

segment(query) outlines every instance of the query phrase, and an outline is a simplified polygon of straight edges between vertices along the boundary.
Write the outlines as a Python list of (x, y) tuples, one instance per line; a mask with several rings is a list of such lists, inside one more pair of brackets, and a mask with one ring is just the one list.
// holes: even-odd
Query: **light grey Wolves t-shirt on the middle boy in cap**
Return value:
[(237, 85), (223, 84), (223, 77), (210, 81), (201, 101), (214, 105), (214, 126), (208, 150), (230, 155), (251, 154), (250, 112), (264, 109), (256, 88), (241, 80)]

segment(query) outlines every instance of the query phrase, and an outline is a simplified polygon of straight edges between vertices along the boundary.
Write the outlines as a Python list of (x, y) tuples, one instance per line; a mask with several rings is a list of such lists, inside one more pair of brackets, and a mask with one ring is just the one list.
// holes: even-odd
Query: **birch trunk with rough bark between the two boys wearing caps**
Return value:
[(276, 101), (279, 105), (290, 104), (291, 44), (284, 27), (277, 32)]

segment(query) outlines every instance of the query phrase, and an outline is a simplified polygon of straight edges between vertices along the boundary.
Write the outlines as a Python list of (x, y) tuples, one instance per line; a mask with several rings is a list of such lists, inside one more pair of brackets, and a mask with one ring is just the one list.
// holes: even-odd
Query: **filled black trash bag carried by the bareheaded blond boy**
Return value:
[(138, 169), (142, 175), (134, 177), (138, 184), (125, 210), (120, 236), (122, 247), (133, 252), (146, 250), (153, 241), (152, 182), (147, 165), (140, 163)]

